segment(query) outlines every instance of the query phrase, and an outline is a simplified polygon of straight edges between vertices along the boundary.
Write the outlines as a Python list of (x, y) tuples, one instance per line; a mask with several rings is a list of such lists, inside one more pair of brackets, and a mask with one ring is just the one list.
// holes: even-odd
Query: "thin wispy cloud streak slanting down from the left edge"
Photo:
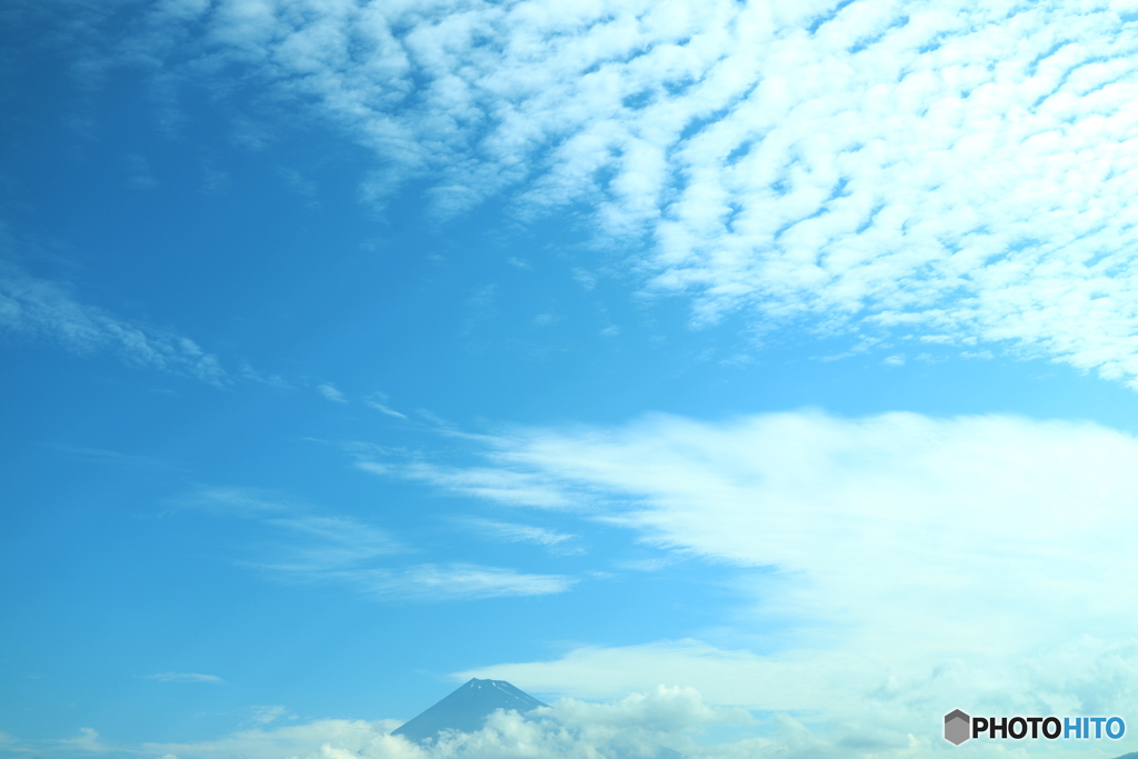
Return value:
[(127, 364), (223, 387), (217, 357), (189, 338), (145, 327), (75, 300), (63, 287), (0, 258), (0, 329), (61, 345), (80, 355), (109, 352)]

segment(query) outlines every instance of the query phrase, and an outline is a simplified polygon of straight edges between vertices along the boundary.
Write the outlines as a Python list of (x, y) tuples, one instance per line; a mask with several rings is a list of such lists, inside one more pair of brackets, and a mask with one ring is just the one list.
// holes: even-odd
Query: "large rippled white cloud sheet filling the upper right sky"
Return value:
[(149, 53), (240, 60), (316, 104), (374, 152), (372, 199), (419, 176), (443, 213), (589, 204), (602, 236), (652, 241), (636, 271), (698, 321), (1138, 377), (1138, 26), (1118, 3), (187, 8), (155, 28), (204, 22), (198, 47)]

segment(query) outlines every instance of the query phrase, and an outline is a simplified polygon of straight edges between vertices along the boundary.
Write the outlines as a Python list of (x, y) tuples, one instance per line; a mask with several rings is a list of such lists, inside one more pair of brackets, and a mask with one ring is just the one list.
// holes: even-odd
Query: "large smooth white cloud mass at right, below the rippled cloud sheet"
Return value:
[(732, 646), (586, 646), (456, 677), (496, 673), (583, 698), (693, 685), (716, 703), (841, 725), (865, 709), (896, 716), (890, 740), (967, 704), (1132, 708), (1129, 434), (1009, 415), (803, 411), (470, 439), (490, 464), (472, 469), (505, 470), (520, 495), (456, 493), (520, 504), (541, 481), (643, 542), (736, 568), (748, 601), (716, 632)]

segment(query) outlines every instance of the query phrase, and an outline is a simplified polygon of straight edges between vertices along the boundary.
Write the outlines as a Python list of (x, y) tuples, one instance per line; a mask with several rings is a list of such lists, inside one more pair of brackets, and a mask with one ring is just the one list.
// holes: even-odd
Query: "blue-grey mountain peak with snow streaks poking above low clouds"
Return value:
[(513, 709), (518, 713), (525, 713), (545, 706), (547, 704), (505, 680), (480, 680), (476, 677), (391, 734), (422, 743), (446, 729), (463, 733), (479, 731), (486, 718), (497, 709)]

